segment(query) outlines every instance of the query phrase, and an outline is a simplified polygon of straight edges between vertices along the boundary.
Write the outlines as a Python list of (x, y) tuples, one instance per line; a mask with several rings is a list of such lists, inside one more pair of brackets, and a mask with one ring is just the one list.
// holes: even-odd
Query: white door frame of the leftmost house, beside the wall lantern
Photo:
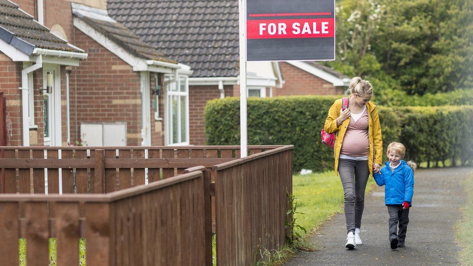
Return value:
[[(52, 92), (47, 93), (47, 72), (53, 71), (54, 82)], [(62, 123), (61, 123), (61, 68), (58, 64), (43, 64), (43, 95), (48, 95), (49, 105), (49, 137), (44, 138), (45, 146), (62, 146)], [(43, 117), (44, 121), (44, 117)], [(44, 126), (44, 125), (43, 125)]]

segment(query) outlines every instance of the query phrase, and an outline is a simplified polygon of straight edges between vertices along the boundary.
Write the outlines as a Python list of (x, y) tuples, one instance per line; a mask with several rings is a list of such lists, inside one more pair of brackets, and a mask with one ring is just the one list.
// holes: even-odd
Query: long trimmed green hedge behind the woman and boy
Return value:
[[(327, 112), (340, 96), (248, 99), (248, 144), (294, 145), (294, 171), (333, 169), (333, 151), (320, 142)], [(383, 144), (406, 144), (406, 158), (473, 163), (473, 107), (378, 108)], [(204, 112), (206, 143), (239, 145), (238, 98), (215, 99)], [(448, 130), (453, 129), (453, 130)]]

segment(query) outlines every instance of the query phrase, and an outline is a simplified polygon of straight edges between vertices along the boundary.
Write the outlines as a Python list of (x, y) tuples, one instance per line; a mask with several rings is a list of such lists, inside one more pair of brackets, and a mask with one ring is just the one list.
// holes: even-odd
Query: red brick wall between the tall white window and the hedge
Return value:
[[(223, 86), (225, 97), (233, 96), (232, 85)], [(220, 98), (219, 86), (189, 86), (190, 144), (204, 145), (204, 108), (208, 100)]]

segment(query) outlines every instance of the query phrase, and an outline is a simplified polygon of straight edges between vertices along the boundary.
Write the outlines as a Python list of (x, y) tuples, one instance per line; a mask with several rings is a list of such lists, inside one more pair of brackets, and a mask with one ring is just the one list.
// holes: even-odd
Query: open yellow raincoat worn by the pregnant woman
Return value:
[[(368, 109), (368, 137), (369, 137), (369, 155), (368, 155), (368, 169), (370, 173), (373, 173), (373, 160), (374, 162), (381, 164), (383, 159), (383, 140), (381, 139), (381, 125), (379, 123), (378, 110), (376, 105), (372, 102), (366, 104)], [(342, 99), (336, 100), (330, 107), (329, 115), (325, 120), (324, 129), (327, 133), (337, 132), (337, 138), (334, 146), (335, 155), (335, 172), (338, 175), (338, 157), (340, 156), (340, 149), (342, 148), (343, 137), (345, 131), (347, 131), (348, 124), (350, 124), (350, 117), (348, 117), (343, 123), (337, 127), (337, 117), (340, 116), (340, 110), (342, 109)]]

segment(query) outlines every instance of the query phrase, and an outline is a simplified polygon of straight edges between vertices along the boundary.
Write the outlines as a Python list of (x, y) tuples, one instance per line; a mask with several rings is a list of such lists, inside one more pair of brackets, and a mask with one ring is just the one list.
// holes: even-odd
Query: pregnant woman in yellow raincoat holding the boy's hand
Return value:
[(383, 142), (378, 110), (370, 102), (373, 87), (367, 80), (355, 77), (350, 82), (349, 104), (342, 111), (342, 99), (329, 110), (324, 129), (338, 131), (335, 141), (335, 172), (340, 174), (345, 195), (347, 249), (363, 244), (360, 238), (364, 208), (364, 191), (370, 173), (378, 172), (382, 161)]

